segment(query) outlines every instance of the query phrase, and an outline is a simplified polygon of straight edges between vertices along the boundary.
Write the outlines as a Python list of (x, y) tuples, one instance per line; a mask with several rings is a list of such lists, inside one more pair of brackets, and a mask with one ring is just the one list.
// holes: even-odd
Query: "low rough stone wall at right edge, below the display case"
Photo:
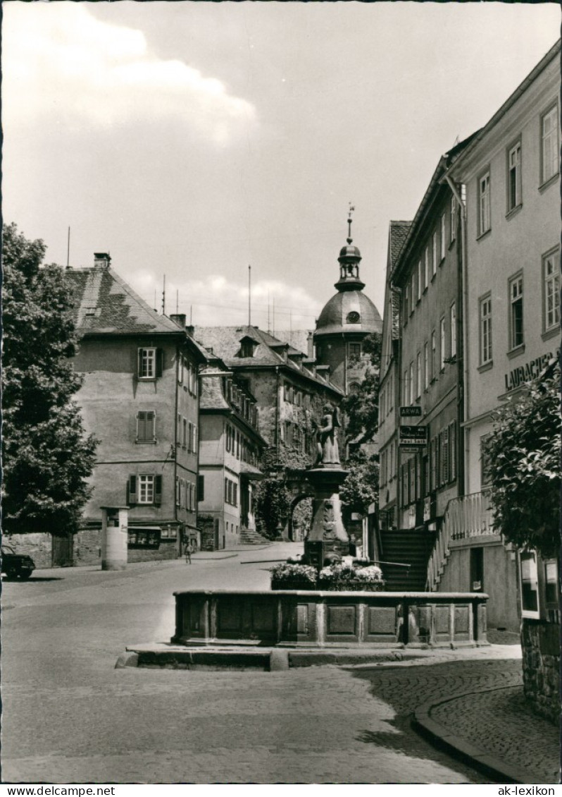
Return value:
[(543, 717), (560, 721), (560, 626), (524, 618), (521, 626), (525, 697)]

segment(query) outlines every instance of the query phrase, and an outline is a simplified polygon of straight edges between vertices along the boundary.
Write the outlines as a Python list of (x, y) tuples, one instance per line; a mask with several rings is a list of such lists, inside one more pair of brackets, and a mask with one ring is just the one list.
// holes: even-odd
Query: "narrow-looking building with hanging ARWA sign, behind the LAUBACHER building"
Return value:
[(439, 160), (390, 273), (390, 291), (400, 296), (398, 386), (392, 396), (385, 381), (380, 414), (382, 426), (390, 414), (390, 440), (396, 398), (398, 436), (397, 446), (388, 442), (381, 453), (381, 489), (394, 471), (398, 528), (435, 532), (449, 501), (462, 493), (459, 210), (441, 178), (464, 147), (460, 143)]

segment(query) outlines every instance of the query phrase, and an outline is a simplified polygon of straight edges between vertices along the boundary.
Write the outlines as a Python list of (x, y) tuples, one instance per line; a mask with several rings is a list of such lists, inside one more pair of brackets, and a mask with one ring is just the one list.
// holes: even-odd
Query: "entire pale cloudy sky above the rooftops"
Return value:
[[(2, 4), (4, 222), (193, 324), (314, 328), (559, 37), (555, 3)], [(274, 312), (275, 310), (275, 312)]]

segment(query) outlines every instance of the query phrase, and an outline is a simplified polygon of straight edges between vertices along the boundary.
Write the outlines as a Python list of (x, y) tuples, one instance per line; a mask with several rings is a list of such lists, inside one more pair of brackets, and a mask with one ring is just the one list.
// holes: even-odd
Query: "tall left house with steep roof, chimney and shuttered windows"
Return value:
[(158, 315), (110, 261), (96, 254), (93, 268), (65, 273), (80, 340), (74, 367), (84, 378), (76, 400), (99, 441), (75, 564), (99, 556), (102, 506), (128, 506), (131, 561), (172, 558), (183, 540), (197, 541), (197, 371), (205, 355), (186, 334), (185, 316)]

